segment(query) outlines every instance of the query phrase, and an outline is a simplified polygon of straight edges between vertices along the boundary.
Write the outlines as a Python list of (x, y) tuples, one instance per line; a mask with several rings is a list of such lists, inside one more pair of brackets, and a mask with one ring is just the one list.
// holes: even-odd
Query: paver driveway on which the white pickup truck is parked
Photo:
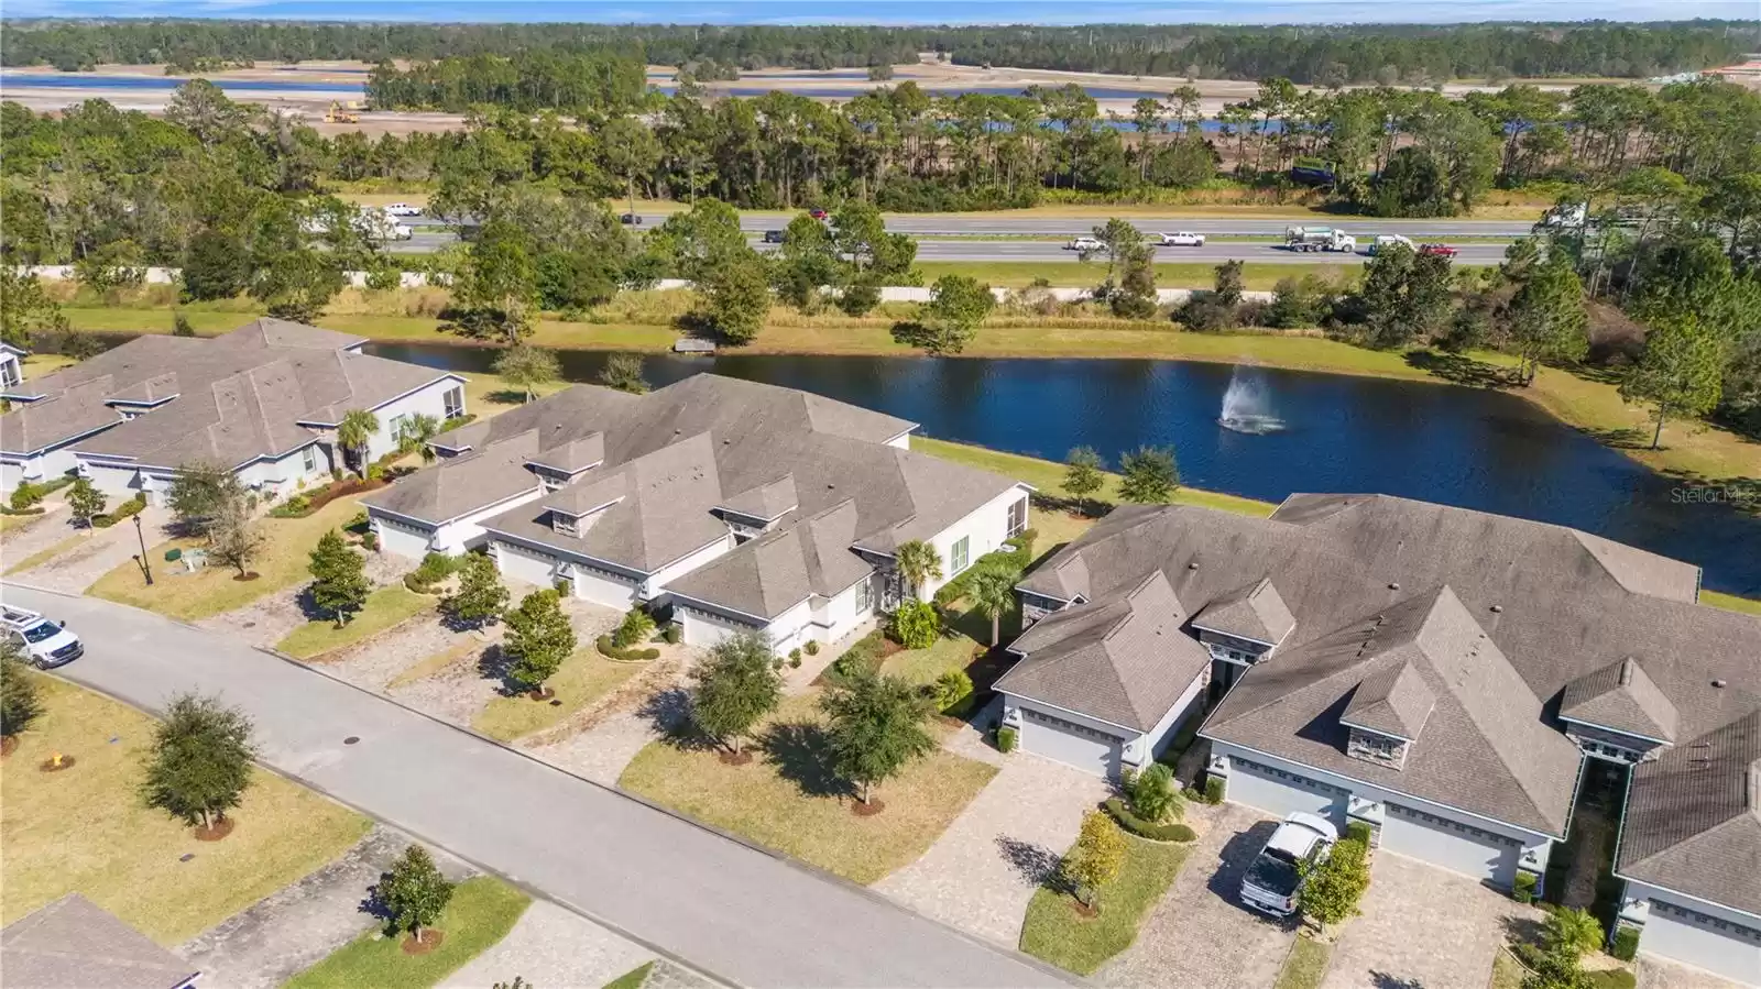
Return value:
[(1187, 813), (1203, 818), (1205, 834), (1136, 943), (1097, 980), (1131, 989), (1266, 989), (1284, 968), (1296, 927), (1254, 913), (1236, 894), (1277, 824), (1240, 804)]

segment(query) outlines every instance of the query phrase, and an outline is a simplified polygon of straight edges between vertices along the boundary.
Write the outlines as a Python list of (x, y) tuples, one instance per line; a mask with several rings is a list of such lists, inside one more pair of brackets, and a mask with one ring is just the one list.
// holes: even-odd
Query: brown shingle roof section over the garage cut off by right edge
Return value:
[(1615, 871), (1761, 917), (1761, 711), (1632, 769)]

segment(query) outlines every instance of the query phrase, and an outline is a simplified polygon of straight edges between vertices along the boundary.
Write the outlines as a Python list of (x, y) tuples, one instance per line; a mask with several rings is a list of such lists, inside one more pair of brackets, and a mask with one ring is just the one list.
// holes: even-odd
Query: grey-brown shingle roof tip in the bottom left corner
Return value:
[(70, 892), (0, 931), (0, 970), (21, 989), (173, 989), (197, 970)]

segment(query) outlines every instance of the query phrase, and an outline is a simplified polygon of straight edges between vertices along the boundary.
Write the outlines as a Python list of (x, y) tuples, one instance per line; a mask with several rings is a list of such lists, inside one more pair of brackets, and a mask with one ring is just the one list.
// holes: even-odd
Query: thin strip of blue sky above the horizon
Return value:
[(7, 18), (678, 25), (1458, 23), (1761, 19), (1761, 0), (4, 0)]

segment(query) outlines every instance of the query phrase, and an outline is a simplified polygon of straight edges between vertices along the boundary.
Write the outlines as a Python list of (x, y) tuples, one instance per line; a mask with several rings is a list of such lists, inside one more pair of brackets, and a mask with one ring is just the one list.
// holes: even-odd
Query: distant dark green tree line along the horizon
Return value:
[(1735, 62), (1761, 44), (1754, 21), (1499, 25), (342, 25), (210, 19), (11, 19), (5, 65), (440, 60), (534, 51), (641, 51), (659, 65), (740, 69), (903, 65), (939, 53), (1011, 65), (1296, 83), (1456, 77), (1645, 77)]

